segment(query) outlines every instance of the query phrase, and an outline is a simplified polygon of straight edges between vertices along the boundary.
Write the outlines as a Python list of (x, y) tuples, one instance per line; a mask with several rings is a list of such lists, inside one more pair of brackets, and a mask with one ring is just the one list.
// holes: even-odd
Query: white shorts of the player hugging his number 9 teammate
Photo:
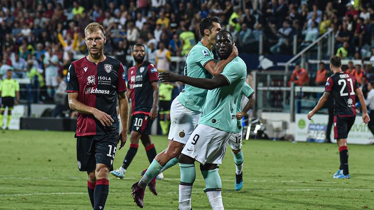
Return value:
[(187, 108), (175, 98), (170, 107), (170, 130), (168, 140), (186, 144), (192, 131), (197, 126), (200, 116), (201, 112)]

